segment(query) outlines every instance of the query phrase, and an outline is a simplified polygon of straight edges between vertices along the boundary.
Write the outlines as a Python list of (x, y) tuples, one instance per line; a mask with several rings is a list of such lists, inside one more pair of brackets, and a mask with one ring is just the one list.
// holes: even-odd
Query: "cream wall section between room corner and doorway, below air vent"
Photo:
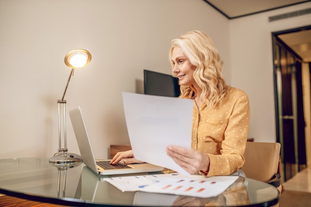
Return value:
[(230, 21), (231, 84), (249, 96), (249, 137), (276, 141), (272, 32), (311, 25), (311, 14), (269, 22), (268, 17), (310, 8), (311, 2)]

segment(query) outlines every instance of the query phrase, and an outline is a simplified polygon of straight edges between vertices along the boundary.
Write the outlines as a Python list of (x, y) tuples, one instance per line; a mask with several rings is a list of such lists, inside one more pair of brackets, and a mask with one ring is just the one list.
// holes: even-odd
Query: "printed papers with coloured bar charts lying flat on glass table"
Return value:
[(142, 191), (149, 193), (174, 194), (210, 198), (223, 193), (238, 176), (204, 177), (185, 176), (179, 173), (110, 177), (104, 180), (122, 192)]

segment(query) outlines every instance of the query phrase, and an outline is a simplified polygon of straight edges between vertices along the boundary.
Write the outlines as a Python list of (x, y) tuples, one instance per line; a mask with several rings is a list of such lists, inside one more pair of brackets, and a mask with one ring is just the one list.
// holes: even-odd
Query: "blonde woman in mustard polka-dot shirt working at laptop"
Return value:
[[(178, 77), (179, 98), (193, 99), (191, 148), (168, 146), (166, 153), (190, 174), (238, 175), (249, 127), (248, 96), (226, 84), (223, 62), (214, 43), (201, 31), (191, 31), (172, 40), (169, 51), (173, 75)], [(133, 151), (118, 152), (115, 164), (140, 162)]]

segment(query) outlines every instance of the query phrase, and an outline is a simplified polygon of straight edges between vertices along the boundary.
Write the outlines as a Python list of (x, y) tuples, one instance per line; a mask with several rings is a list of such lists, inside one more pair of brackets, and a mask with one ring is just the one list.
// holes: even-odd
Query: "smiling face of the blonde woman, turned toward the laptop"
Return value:
[(193, 72), (196, 69), (193, 66), (180, 47), (174, 47), (172, 50), (173, 73), (178, 77), (179, 85), (195, 85)]

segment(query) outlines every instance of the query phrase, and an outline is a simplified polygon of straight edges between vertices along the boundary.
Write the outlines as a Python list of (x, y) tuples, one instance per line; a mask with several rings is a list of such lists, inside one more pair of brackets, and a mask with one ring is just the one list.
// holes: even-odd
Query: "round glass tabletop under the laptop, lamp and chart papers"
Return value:
[[(160, 173), (160, 172), (157, 172)], [(120, 175), (118, 175), (120, 176)], [(266, 183), (238, 178), (213, 198), (121, 192), (83, 163), (55, 165), (48, 158), (0, 159), (0, 193), (22, 199), (76, 207), (97, 206), (273, 206), (279, 191)]]

